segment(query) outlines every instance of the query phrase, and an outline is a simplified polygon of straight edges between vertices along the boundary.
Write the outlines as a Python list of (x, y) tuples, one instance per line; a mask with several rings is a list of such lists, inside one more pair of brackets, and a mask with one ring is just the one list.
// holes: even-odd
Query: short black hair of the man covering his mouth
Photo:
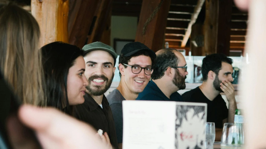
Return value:
[(225, 54), (210, 54), (203, 58), (201, 66), (203, 81), (208, 79), (209, 71), (213, 71), (216, 75), (218, 75), (222, 67), (222, 62), (232, 65), (233, 60), (228, 58)]

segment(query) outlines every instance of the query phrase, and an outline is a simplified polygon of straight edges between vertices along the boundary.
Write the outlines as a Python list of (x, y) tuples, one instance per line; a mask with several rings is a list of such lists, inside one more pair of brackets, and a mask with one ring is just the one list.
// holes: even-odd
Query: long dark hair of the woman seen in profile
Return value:
[(52, 42), (41, 48), (45, 74), (47, 106), (52, 106), (74, 116), (74, 107), (69, 105), (67, 97), (67, 77), (69, 68), (83, 51), (75, 45)]

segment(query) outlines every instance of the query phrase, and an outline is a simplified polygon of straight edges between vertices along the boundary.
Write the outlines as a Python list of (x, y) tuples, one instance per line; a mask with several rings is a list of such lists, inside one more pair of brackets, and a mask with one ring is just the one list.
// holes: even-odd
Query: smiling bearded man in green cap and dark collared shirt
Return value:
[(85, 102), (77, 105), (76, 117), (107, 133), (114, 148), (118, 148), (114, 118), (104, 93), (114, 78), (117, 54), (114, 49), (101, 42), (85, 45), (85, 77), (88, 80)]

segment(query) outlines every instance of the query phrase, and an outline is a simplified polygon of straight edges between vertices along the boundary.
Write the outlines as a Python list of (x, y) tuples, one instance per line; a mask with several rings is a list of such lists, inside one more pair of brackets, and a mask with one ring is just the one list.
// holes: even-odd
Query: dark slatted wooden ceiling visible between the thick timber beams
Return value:
[[(165, 30), (165, 41), (169, 47), (179, 48), (186, 33), (191, 15), (197, 5), (197, 0), (172, 0), (170, 10), (167, 16), (167, 27)], [(117, 16), (137, 16), (139, 17), (142, 0), (114, 0), (112, 15)], [(197, 19), (204, 22), (205, 4)], [(230, 21), (230, 50), (243, 50), (247, 30), (247, 12), (241, 12), (235, 5), (232, 7), (232, 16)], [(186, 47), (190, 46), (188, 40)]]

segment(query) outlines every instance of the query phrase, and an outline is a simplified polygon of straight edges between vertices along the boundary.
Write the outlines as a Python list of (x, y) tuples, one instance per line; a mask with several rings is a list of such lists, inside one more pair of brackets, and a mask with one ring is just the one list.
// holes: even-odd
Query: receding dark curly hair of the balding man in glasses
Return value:
[(167, 67), (176, 67), (178, 64), (178, 58), (174, 51), (176, 49), (162, 49), (162, 53), (157, 54), (154, 64), (152, 64), (153, 73), (152, 79), (160, 79), (164, 75), (164, 70)]

